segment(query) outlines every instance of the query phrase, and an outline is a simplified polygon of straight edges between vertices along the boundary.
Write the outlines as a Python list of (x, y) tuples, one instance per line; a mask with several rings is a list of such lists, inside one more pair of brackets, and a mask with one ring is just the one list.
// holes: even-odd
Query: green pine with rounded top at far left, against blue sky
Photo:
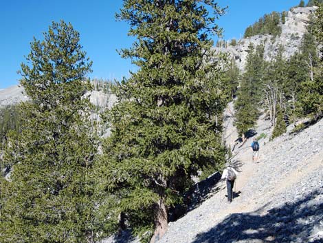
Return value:
[(1, 178), (0, 242), (93, 242), (91, 166), (91, 62), (79, 34), (64, 21), (52, 23), (44, 40), (34, 39), (21, 85), (21, 133), (8, 138)]

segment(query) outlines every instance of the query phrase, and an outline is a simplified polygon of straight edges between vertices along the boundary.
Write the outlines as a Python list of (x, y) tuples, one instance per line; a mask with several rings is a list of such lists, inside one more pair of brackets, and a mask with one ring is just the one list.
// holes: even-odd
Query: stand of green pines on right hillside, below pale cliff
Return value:
[[(243, 137), (256, 124), (261, 109), (274, 127), (273, 138), (286, 131), (284, 123), (301, 118), (315, 122), (322, 117), (322, 50), (317, 48), (322, 43), (320, 11), (310, 17), (298, 52), (288, 59), (284, 45), (270, 60), (264, 58), (264, 45), (249, 45), (235, 103), (236, 126)], [(296, 129), (302, 128), (300, 123)]]

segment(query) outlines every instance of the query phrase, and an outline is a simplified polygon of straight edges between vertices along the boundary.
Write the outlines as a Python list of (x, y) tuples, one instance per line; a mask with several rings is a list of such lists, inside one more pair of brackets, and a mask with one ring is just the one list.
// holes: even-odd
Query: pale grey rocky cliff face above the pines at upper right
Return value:
[(285, 48), (284, 56), (288, 59), (291, 55), (299, 50), (302, 36), (306, 32), (309, 16), (315, 12), (316, 7), (292, 8), (287, 12), (285, 24), (280, 23), (282, 33), (280, 36), (273, 38), (270, 34), (256, 35), (249, 38), (241, 39), (236, 46), (225, 48), (214, 47), (216, 52), (226, 52), (236, 60), (240, 70), (244, 70), (247, 50), (250, 43), (254, 46), (265, 45), (265, 60), (269, 61), (275, 56), (278, 47), (283, 45)]

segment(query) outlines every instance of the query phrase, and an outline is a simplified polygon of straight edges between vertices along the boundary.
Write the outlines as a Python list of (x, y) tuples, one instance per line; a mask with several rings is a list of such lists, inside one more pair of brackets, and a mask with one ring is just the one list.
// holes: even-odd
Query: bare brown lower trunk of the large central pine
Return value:
[(166, 233), (168, 229), (168, 217), (164, 198), (160, 198), (155, 211), (155, 232), (150, 243), (155, 243)]

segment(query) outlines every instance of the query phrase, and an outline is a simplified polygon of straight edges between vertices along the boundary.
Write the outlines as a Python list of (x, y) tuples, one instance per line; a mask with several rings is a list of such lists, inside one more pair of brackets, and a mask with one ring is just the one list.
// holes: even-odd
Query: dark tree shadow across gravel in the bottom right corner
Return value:
[(322, 193), (323, 188), (313, 191), (265, 215), (260, 215), (264, 207), (252, 213), (234, 213), (210, 231), (197, 235), (193, 243), (322, 242)]

